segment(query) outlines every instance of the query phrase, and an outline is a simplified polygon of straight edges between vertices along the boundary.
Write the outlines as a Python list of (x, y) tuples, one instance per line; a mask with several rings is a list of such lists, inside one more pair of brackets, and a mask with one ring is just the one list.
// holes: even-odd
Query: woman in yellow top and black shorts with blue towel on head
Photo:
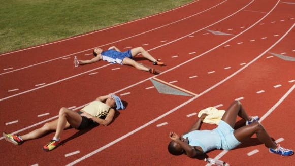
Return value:
[(56, 130), (53, 139), (43, 147), (44, 151), (51, 151), (60, 144), (61, 132), (64, 129), (73, 127), (80, 130), (92, 124), (98, 123), (104, 126), (110, 124), (115, 115), (115, 110), (113, 109), (115, 107), (117, 110), (125, 109), (118, 96), (113, 94), (100, 96), (78, 112), (62, 107), (59, 110), (58, 119), (46, 123), (41, 128), (28, 134), (19, 136), (3, 132), (3, 136), (7, 141), (20, 145), (26, 140), (37, 139), (49, 131)]

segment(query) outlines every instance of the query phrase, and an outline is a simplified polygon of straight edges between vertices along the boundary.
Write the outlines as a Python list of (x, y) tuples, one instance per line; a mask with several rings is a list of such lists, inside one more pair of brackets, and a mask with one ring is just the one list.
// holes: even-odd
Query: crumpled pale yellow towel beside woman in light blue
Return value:
[(224, 110), (217, 110), (215, 107), (208, 107), (204, 110), (201, 110), (198, 114), (198, 117), (200, 118), (203, 113), (208, 114), (205, 119), (203, 120), (204, 123), (209, 124), (217, 124), (219, 125), (219, 122), (225, 113)]

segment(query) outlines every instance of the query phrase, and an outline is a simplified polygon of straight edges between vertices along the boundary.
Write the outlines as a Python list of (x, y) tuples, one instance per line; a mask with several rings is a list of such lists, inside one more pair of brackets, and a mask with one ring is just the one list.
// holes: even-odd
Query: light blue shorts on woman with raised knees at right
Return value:
[(220, 120), (220, 123), (215, 130), (218, 131), (221, 137), (221, 149), (231, 150), (241, 144), (241, 142), (239, 142), (234, 136), (234, 128), (223, 120)]

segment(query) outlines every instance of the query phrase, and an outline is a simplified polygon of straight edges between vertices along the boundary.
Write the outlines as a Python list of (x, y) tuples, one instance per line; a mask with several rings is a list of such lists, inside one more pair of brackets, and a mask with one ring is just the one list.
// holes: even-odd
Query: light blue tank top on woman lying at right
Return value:
[(221, 148), (221, 138), (216, 130), (193, 130), (182, 136), (186, 137), (190, 146), (200, 146), (204, 153)]

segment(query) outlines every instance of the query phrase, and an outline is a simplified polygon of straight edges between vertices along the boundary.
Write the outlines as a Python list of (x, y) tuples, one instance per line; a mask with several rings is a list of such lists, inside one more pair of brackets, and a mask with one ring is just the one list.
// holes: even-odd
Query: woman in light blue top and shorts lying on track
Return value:
[[(237, 115), (246, 120), (246, 126), (234, 130)], [(186, 154), (190, 158), (195, 158), (212, 149), (231, 150), (250, 139), (254, 134), (261, 143), (269, 148), (271, 153), (282, 156), (293, 154), (293, 150), (276, 144), (264, 126), (258, 122), (258, 116), (248, 116), (239, 101), (232, 103), (222, 116), (219, 126), (213, 130), (200, 130), (206, 116), (207, 114), (202, 114), (200, 119), (182, 137), (179, 137), (175, 132), (170, 132), (169, 137), (172, 140), (168, 145), (170, 154)]]

